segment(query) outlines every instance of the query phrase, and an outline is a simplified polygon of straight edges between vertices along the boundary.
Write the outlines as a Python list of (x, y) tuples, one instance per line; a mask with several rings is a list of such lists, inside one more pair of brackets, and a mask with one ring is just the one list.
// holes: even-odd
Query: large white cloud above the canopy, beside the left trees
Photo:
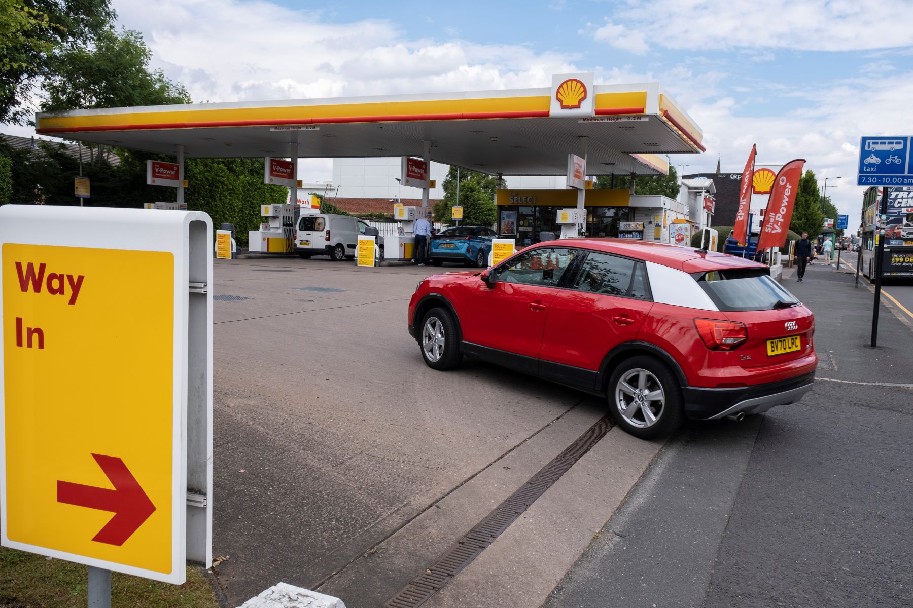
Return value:
[[(527, 46), (410, 40), (388, 21), (333, 24), (256, 0), (114, 2), (153, 65), (194, 101), (545, 87), (572, 56)], [(452, 35), (452, 33), (451, 33)]]

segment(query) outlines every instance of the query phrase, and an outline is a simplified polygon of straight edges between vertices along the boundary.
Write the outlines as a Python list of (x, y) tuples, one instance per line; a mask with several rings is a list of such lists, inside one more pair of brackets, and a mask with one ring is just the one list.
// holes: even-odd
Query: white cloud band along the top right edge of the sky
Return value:
[[(624, 26), (616, 25), (624, 22)], [(909, 0), (627, 0), (596, 40), (634, 53), (683, 49), (872, 50), (913, 45)], [(758, 56), (752, 60), (766, 60)]]

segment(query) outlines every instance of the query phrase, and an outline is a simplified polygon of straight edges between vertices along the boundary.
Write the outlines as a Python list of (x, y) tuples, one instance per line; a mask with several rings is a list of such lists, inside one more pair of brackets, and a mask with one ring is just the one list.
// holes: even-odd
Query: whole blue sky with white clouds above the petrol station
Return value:
[[(685, 172), (807, 160), (858, 225), (861, 135), (913, 134), (913, 0), (113, 0), (194, 101), (658, 81), (704, 131)], [(310, 173), (310, 174), (309, 174)], [(305, 180), (331, 179), (328, 162)]]

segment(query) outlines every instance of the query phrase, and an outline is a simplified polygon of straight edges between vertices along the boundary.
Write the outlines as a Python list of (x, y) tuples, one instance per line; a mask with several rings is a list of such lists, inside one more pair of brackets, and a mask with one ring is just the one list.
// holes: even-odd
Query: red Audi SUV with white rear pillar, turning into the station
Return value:
[(794, 403), (817, 365), (812, 312), (767, 266), (620, 239), (542, 242), (429, 276), (409, 333), (435, 369), (473, 356), (606, 397), (640, 438)]

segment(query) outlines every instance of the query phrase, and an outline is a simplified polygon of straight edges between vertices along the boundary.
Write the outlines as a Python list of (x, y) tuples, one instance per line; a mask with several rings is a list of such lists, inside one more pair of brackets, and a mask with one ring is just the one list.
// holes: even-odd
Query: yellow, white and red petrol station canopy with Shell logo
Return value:
[[(569, 82), (580, 83), (571, 97)], [(659, 84), (593, 86), (592, 74), (554, 77), (551, 88), (49, 112), (36, 125), (120, 148), (183, 146), (197, 158), (289, 158), (295, 141), (298, 158), (420, 157), (430, 140), (432, 160), (505, 175), (564, 174), (584, 138), (589, 175), (664, 174), (657, 154), (704, 149)]]

